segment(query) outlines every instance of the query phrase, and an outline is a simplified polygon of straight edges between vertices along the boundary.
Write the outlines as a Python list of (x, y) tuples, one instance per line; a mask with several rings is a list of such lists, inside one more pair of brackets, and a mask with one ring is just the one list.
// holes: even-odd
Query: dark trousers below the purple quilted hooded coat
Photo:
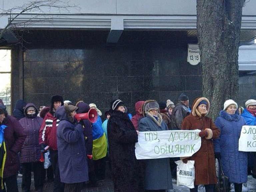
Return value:
[(31, 172), (34, 172), (35, 190), (43, 189), (44, 181), (42, 175), (44, 174), (44, 164), (42, 162), (22, 163), (22, 190), (30, 190)]

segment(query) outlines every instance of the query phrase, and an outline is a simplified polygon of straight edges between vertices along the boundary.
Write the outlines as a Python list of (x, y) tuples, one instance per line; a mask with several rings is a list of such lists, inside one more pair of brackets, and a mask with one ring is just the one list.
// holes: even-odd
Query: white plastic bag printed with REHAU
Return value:
[(194, 188), (195, 181), (195, 161), (188, 161), (186, 164), (182, 160), (175, 161), (177, 164), (177, 186), (185, 185)]

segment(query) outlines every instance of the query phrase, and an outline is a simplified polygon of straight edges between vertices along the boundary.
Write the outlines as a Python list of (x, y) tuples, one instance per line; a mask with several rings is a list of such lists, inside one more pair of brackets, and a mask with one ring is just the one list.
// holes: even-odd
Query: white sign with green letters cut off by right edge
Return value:
[(256, 151), (256, 126), (244, 125), (239, 138), (239, 151)]

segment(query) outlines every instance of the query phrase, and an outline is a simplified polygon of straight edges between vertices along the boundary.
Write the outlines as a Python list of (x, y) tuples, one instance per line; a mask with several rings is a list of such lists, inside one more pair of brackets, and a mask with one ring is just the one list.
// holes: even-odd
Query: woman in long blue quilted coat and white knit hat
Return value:
[(234, 183), (235, 192), (242, 192), (242, 184), (247, 182), (247, 153), (238, 151), (238, 140), (242, 126), (246, 123), (243, 117), (239, 116), (235, 101), (225, 101), (215, 125), (221, 132), (219, 138), (214, 141), (215, 156), (220, 157), (229, 184)]

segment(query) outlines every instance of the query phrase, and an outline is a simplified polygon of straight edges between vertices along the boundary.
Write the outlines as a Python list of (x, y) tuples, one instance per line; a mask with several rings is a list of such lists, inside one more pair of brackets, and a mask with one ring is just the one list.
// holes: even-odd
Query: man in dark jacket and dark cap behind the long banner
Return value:
[(183, 119), (189, 115), (188, 110), (189, 99), (184, 93), (181, 93), (178, 97), (178, 103), (175, 105), (172, 112), (172, 121), (174, 125), (173, 130), (180, 130)]

